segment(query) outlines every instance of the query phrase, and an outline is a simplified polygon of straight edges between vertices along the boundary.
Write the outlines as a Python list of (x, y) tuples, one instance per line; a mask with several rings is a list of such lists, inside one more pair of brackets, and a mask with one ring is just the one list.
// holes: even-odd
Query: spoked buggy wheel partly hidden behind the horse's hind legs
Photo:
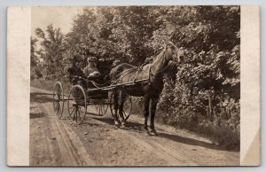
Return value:
[[(113, 115), (114, 118), (114, 103), (113, 103), (113, 93), (110, 96), (110, 111)], [(132, 113), (132, 100), (130, 97), (126, 98), (123, 106), (123, 116), (125, 121), (129, 119), (130, 114)], [(120, 117), (119, 115), (119, 110), (117, 111), (117, 116)]]

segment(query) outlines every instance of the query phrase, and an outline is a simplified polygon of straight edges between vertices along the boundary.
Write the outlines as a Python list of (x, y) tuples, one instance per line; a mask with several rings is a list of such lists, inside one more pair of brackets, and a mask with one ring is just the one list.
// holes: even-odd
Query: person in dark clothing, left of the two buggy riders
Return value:
[(71, 63), (71, 66), (67, 68), (69, 82), (71, 82), (73, 85), (76, 84), (80, 77), (84, 77), (84, 74), (82, 72), (82, 69), (78, 66), (76, 66), (77, 59), (74, 57), (73, 59), (68, 59)]

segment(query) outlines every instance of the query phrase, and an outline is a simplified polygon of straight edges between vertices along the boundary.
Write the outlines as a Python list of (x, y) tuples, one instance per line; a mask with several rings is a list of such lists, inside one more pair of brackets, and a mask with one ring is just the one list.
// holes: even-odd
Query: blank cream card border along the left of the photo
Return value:
[(29, 164), (31, 8), (8, 9), (7, 164)]

